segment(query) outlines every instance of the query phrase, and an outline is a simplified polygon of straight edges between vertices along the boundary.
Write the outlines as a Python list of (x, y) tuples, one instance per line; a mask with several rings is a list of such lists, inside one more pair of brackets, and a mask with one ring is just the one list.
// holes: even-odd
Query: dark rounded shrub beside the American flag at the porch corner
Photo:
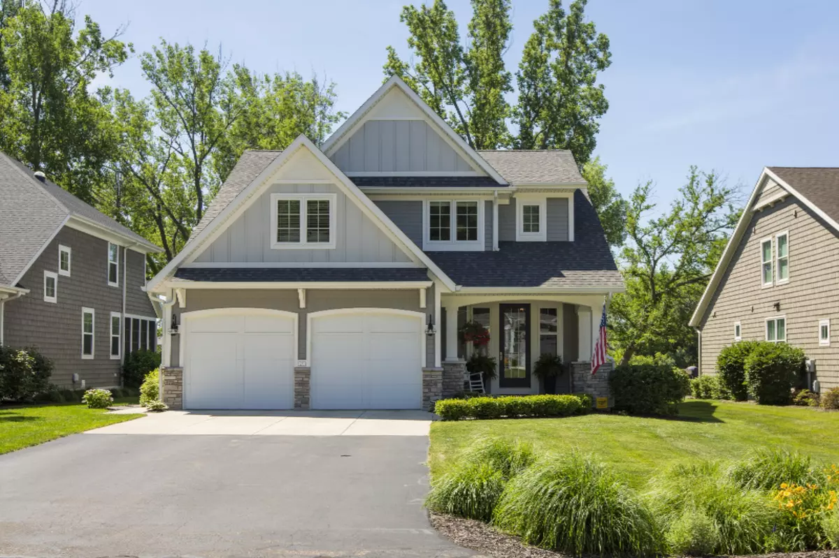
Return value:
[(676, 404), (690, 394), (684, 370), (652, 364), (618, 366), (609, 377), (617, 411), (633, 415), (675, 415)]

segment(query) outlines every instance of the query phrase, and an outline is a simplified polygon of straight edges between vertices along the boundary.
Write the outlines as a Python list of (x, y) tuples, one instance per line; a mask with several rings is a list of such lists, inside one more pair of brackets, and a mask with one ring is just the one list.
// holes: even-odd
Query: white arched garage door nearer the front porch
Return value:
[(419, 409), (422, 327), (419, 314), (313, 314), (312, 408)]

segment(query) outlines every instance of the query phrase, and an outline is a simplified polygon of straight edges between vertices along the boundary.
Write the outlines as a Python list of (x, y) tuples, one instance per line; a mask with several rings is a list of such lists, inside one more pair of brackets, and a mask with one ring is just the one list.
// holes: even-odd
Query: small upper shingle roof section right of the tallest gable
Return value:
[(513, 186), (586, 182), (567, 149), (479, 150), (478, 154)]

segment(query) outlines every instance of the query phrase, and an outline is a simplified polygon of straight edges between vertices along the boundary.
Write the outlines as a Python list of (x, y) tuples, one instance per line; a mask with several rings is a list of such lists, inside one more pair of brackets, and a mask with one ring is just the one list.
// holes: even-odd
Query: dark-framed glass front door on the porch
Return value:
[(499, 304), (498, 385), (530, 387), (530, 305)]

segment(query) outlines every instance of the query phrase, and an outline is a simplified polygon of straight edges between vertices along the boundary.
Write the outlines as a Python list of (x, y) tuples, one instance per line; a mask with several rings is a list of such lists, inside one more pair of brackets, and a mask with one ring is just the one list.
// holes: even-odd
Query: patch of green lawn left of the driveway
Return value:
[(0, 407), (0, 454), (142, 416), (106, 413), (78, 404)]

